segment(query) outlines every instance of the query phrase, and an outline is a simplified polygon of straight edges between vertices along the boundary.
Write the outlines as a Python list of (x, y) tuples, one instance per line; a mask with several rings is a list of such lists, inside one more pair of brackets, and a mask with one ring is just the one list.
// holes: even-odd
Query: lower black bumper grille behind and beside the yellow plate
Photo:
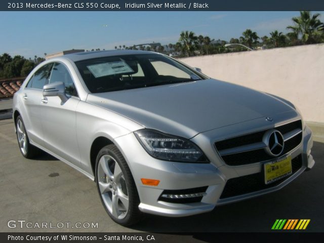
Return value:
[[(292, 159), (292, 172), (293, 172), (292, 175), (296, 173), (301, 167), (302, 167), (302, 155), (300, 154), (297, 157)], [(264, 183), (263, 171), (252, 175), (232, 178), (226, 182), (226, 185), (224, 187), (222, 195), (220, 196), (220, 199), (271, 188), (279, 185), (282, 181), (287, 180), (287, 178), (289, 177), (282, 178), (271, 184)]]

